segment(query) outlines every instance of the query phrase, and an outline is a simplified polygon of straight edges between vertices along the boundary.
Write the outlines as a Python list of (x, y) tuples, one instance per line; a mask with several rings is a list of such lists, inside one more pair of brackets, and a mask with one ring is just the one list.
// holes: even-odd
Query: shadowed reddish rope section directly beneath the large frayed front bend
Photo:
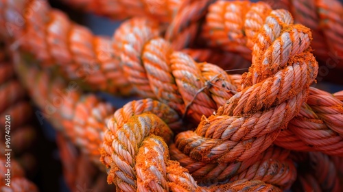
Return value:
[(242, 162), (222, 164), (209, 164), (193, 160), (180, 152), (175, 145), (169, 146), (169, 152), (171, 159), (177, 160), (182, 167), (189, 170), (193, 178), (204, 184), (245, 178), (261, 180), (281, 189), (287, 189), (296, 178), (294, 176), (295, 167), (287, 159), (289, 151), (278, 147), (270, 147), (263, 154)]

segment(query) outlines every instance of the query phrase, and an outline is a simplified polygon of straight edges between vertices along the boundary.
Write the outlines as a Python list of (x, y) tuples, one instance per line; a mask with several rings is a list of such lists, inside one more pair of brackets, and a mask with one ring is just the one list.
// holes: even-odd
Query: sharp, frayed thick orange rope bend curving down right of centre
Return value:
[(178, 134), (178, 149), (206, 163), (227, 163), (247, 160), (272, 144), (300, 110), (318, 70), (307, 51), (309, 30), (291, 23), (287, 12), (270, 12), (252, 40), (252, 67), (243, 75), (241, 92), (217, 115), (203, 117), (195, 132)]

